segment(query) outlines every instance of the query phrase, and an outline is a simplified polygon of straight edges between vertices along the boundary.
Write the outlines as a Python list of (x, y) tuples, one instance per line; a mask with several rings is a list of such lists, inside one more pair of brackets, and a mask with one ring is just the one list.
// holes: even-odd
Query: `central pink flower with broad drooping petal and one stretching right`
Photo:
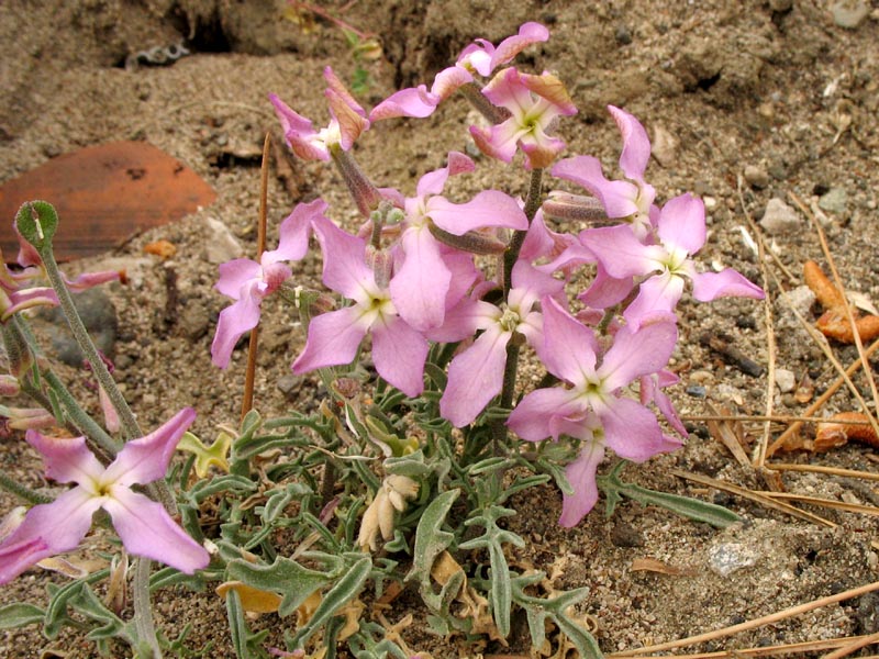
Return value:
[[(499, 190), (483, 190), (460, 204), (439, 197), (449, 176), (472, 170), (470, 158), (452, 152), (448, 166), (421, 177), (415, 197), (404, 202), (405, 220), (398, 243), (399, 263), (390, 282), (390, 292), (398, 313), (420, 332), (442, 325), (446, 309), (456, 304), (466, 292), (459, 286), (453, 287), (453, 276), (466, 277), (460, 268), (465, 264), (452, 263), (453, 255), (458, 253), (449, 250), (433, 236), (431, 224), (456, 236), (486, 227), (526, 230), (528, 226), (519, 202)], [(466, 263), (471, 260), (466, 258)], [(471, 282), (472, 277), (467, 286)], [(449, 291), (456, 294), (449, 298)]]

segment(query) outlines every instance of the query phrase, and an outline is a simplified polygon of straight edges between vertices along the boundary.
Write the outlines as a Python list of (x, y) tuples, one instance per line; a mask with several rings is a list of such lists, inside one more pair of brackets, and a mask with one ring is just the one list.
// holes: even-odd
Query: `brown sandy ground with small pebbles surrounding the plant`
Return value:
[[(857, 7), (846, 14), (828, 2), (799, 0), (349, 4), (322, 7), (376, 33), (383, 44), (383, 57), (365, 67), (370, 82), (361, 94), (364, 104), (374, 104), (394, 86), (430, 81), (477, 36), (497, 42), (526, 20), (542, 21), (553, 36), (528, 51), (521, 64), (555, 70), (567, 82), (580, 108), (575, 119), (559, 126), (570, 153), (596, 155), (605, 171), (615, 171), (619, 135), (604, 105), (625, 107), (653, 137), (656, 158), (648, 178), (659, 201), (687, 190), (705, 201), (710, 238), (702, 253), (704, 263), (736, 267), (763, 281), (743, 228), (755, 236), (747, 219), (760, 220), (769, 201), (779, 199), (794, 210), (790, 223), (765, 234), (783, 266), (770, 263), (767, 271), (786, 289), (801, 287), (802, 264), (815, 259), (826, 266), (826, 258), (806, 213), (795, 209), (799, 199), (806, 206), (816, 204), (819, 212), (810, 213), (819, 216), (826, 232), (846, 288), (879, 299), (876, 2), (842, 3), (861, 4), (863, 15)], [(108, 287), (108, 294), (120, 323), (116, 378), (145, 427), (155, 427), (183, 405), (198, 410), (194, 429), (205, 436), (216, 424), (237, 418), (243, 353), (236, 351), (226, 371), (211, 366), (209, 355), (216, 314), (225, 304), (212, 289), (216, 263), (211, 259), (216, 259), (218, 243), (213, 223), (222, 223), (241, 250), (253, 254), (259, 177), (253, 154), (266, 131), (277, 131), (266, 94), (281, 94), (322, 123), (323, 67), (332, 65), (347, 80), (357, 68), (332, 23), (315, 19), (297, 25), (282, 18), (282, 2), (212, 0), (11, 0), (0, 8), (4, 91), (0, 180), (82, 146), (146, 139), (218, 191), (209, 208), (135, 236), (111, 254), (70, 264), (73, 270), (119, 264), (129, 269), (129, 286)], [(192, 53), (171, 66), (124, 66), (131, 55), (180, 40)], [(442, 166), (448, 150), (467, 148), (466, 115), (466, 104), (457, 100), (423, 122), (381, 125), (358, 143), (357, 157), (380, 185), (411, 194), (418, 177)], [(524, 190), (521, 172), (498, 172), (485, 159), (479, 167), (483, 174), (460, 182), (456, 192), (472, 193), (489, 177), (493, 186), (510, 192)], [(293, 203), (316, 194), (330, 202), (340, 222), (354, 220), (355, 211), (331, 168), (294, 163), (286, 180), (271, 177), (270, 222), (277, 227)], [(159, 238), (177, 247), (171, 259), (144, 254), (144, 245)], [(316, 275), (312, 260), (298, 273), (303, 282), (316, 281)], [(169, 306), (170, 290), (176, 301)], [(754, 470), (731, 457), (701, 416), (712, 406), (727, 414), (764, 414), (767, 395), (775, 414), (803, 414), (808, 402), (767, 380), (770, 366), (792, 373), (795, 383), (812, 389), (813, 398), (834, 380), (825, 355), (780, 301), (779, 284), (770, 282), (768, 290), (770, 314), (752, 301), (685, 305), (680, 347), (674, 357), (681, 383), (672, 395), (681, 414), (690, 418), (690, 439), (681, 450), (626, 472), (645, 487), (727, 505), (745, 524), (717, 532), (663, 510), (627, 503), (611, 518), (597, 510), (568, 530), (556, 525), (560, 496), (552, 488), (515, 501), (520, 514), (511, 526), (530, 545), (514, 560), (555, 571), (557, 588), (588, 587), (591, 593), (580, 613), (594, 618), (607, 652), (741, 623), (876, 580), (875, 517), (811, 506), (835, 525), (827, 528), (675, 474), (696, 472), (764, 489)], [(820, 311), (806, 299), (810, 322)], [(266, 317), (257, 407), (272, 415), (313, 405), (321, 395), (316, 380), (291, 378), (289, 370), (303, 344), (301, 328), (281, 310), (267, 310)], [(720, 333), (763, 366), (763, 375), (744, 373), (699, 340)], [(770, 339), (776, 344), (774, 354)], [(845, 365), (856, 358), (852, 346), (832, 343), (832, 349)], [(62, 368), (88, 394), (84, 375)], [(819, 414), (856, 405), (843, 392)], [(772, 424), (769, 429), (777, 436), (783, 427)], [(755, 443), (763, 433), (763, 423), (749, 422), (742, 436)], [(804, 434), (809, 436), (809, 428)], [(3, 442), (0, 460), (5, 468), (38, 484), (36, 455), (15, 438)], [(875, 471), (874, 450), (849, 444), (827, 454), (794, 453), (778, 459)], [(789, 492), (877, 504), (870, 481), (800, 472), (785, 472), (782, 480)], [(0, 503), (5, 511), (13, 500), (4, 495)], [(88, 549), (98, 547), (94, 540)], [(744, 551), (742, 560), (748, 565), (721, 574), (717, 551)], [(659, 561), (665, 569), (641, 571), (639, 559)], [(47, 581), (64, 579), (31, 571), (0, 589), (0, 599), (40, 601)], [(876, 606), (877, 600), (865, 595), (701, 647), (742, 649), (870, 634), (879, 629)], [(472, 655), (472, 648), (430, 636), (414, 596), (401, 600), (388, 618), (398, 621), (410, 608), (416, 614), (415, 624), (403, 636), (411, 648), (436, 658)], [(169, 637), (191, 623), (188, 647), (200, 648), (210, 639), (214, 646), (209, 656), (232, 656), (219, 597), (170, 591), (159, 595), (157, 611), (158, 624)], [(277, 639), (289, 621), (268, 615), (257, 626), (270, 628)], [(522, 643), (510, 650), (490, 646), (486, 651), (525, 655)], [(42, 656), (86, 657), (93, 651), (74, 634), (54, 641), (42, 638), (34, 627), (0, 634), (0, 655), (35, 657), (43, 648), (54, 648), (55, 654)]]

